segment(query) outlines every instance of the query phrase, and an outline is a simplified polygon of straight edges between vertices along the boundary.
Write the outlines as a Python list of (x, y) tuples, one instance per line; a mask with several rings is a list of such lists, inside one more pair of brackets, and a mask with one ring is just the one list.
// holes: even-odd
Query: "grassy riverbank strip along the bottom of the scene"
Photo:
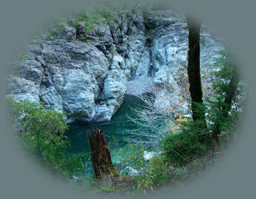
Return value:
[[(151, 169), (153, 167), (155, 171), (149, 169), (146, 174), (140, 176), (105, 176), (103, 179), (95, 180), (87, 191), (93, 195), (110, 198), (133, 196), (144, 198), (152, 197), (152, 195), (157, 196), (158, 192), (169, 193), (175, 191), (178, 186), (193, 183), (194, 180), (204, 177), (205, 174), (213, 170), (225, 158), (226, 153), (223, 150), (223, 148), (216, 150), (214, 156), (209, 151), (207, 155), (180, 167), (172, 167), (171, 165), (166, 167), (164, 166), (166, 162), (161, 159), (163, 157), (158, 156), (148, 162), (148, 167)], [(153, 180), (157, 176), (158, 182)]]

